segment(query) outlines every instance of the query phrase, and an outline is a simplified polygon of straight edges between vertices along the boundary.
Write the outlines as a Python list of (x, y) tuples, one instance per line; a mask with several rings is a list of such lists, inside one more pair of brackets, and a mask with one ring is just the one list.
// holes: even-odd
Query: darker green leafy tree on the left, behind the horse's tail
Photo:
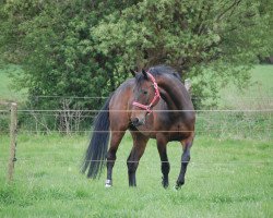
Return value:
[[(23, 64), (25, 73), (16, 78), (28, 88), (29, 96), (102, 96), (119, 84), (114, 81), (114, 63), (94, 49), (90, 27), (99, 16), (95, 10), (99, 7), (94, 7), (88, 1), (25, 0), (4, 4), (7, 22), (2, 28), (10, 26), (12, 35), (20, 37), (13, 44), (7, 33), (1, 43), (12, 50), (5, 49), (5, 58), (20, 59), (17, 63)], [(19, 56), (14, 55), (16, 49)], [(96, 101), (83, 105), (97, 107)], [(39, 101), (38, 106), (55, 108), (59, 102)]]

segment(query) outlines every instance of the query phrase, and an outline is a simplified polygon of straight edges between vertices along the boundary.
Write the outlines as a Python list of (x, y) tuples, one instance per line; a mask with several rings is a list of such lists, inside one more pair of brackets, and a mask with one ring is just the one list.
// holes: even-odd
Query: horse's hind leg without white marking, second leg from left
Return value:
[(127, 159), (129, 186), (136, 186), (135, 171), (139, 166), (139, 160), (142, 157), (149, 138), (139, 132), (131, 132), (133, 137), (133, 147)]

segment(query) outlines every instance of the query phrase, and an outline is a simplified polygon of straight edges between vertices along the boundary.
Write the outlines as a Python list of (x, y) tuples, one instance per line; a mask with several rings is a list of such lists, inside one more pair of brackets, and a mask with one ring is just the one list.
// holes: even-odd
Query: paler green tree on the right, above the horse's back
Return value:
[(193, 94), (215, 98), (228, 81), (247, 84), (272, 35), (260, 1), (144, 0), (92, 28), (97, 49), (122, 57), (120, 68), (167, 63), (192, 77)]

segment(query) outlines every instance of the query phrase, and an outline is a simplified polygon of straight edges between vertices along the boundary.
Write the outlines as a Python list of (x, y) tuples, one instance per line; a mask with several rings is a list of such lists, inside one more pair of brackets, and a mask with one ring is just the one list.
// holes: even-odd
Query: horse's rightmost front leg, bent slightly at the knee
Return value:
[(180, 173), (179, 173), (179, 177), (178, 177), (177, 182), (176, 182), (176, 189), (179, 189), (185, 184), (185, 174), (187, 171), (187, 166), (190, 161), (190, 148), (192, 146), (192, 140), (185, 141), (181, 144), (183, 146), (183, 153), (182, 153), (182, 157), (181, 157)]

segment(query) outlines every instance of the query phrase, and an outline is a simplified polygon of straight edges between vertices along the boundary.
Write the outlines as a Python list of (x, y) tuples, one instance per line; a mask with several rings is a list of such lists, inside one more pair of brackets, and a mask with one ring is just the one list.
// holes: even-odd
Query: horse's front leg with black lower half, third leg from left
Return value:
[(166, 189), (169, 185), (169, 161), (168, 161), (168, 156), (167, 156), (167, 142), (165, 138), (157, 137), (157, 149), (161, 156), (161, 161), (162, 161), (162, 174), (163, 174), (163, 180), (162, 180), (162, 185)]

